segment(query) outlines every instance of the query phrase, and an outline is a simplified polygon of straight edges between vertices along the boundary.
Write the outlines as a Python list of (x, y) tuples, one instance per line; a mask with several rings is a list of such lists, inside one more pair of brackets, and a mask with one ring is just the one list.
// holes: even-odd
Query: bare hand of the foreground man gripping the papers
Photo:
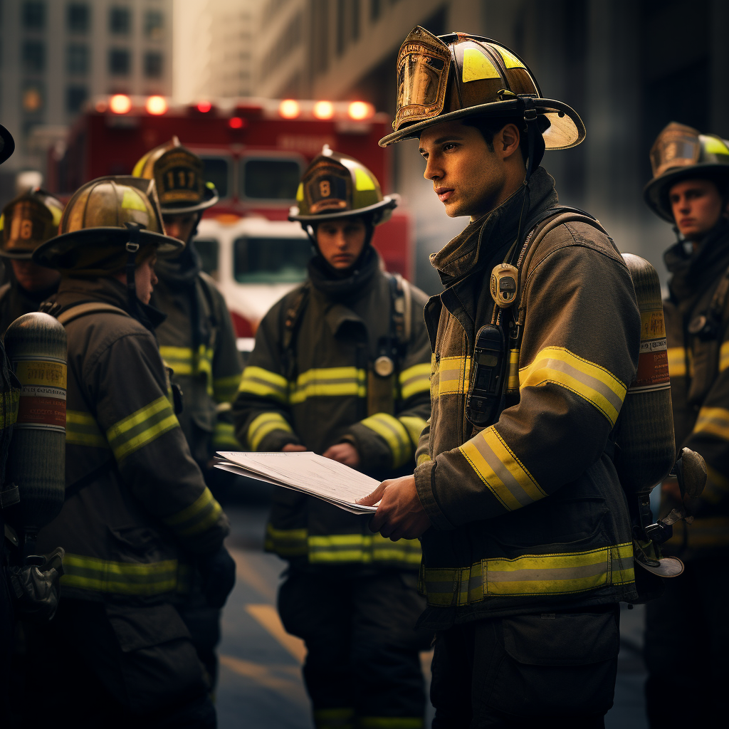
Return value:
[(415, 476), (402, 476), (383, 481), (370, 496), (359, 499), (358, 504), (374, 506), (378, 510), (370, 521), (370, 529), (379, 531), (393, 542), (398, 539), (416, 539), (431, 526), (429, 516), (418, 498)]

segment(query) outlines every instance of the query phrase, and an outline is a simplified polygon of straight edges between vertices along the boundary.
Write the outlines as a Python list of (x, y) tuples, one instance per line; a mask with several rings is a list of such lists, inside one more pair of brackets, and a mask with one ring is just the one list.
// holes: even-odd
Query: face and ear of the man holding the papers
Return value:
[(472, 220), (494, 210), (523, 182), (526, 174), (519, 150), (519, 130), (507, 124), (494, 135), (494, 151), (483, 134), (456, 120), (423, 130), (420, 153), (424, 177), (452, 218)]

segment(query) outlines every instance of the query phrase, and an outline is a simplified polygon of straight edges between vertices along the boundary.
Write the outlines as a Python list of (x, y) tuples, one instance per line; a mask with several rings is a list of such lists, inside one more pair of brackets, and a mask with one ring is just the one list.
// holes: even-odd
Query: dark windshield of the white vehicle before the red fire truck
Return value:
[(239, 284), (298, 284), (306, 278), (311, 243), (302, 238), (235, 239), (233, 264)]

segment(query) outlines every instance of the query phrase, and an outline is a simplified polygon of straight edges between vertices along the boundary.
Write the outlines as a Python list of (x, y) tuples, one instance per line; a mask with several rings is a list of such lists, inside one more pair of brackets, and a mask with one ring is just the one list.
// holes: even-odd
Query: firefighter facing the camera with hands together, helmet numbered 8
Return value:
[[(251, 451), (314, 451), (378, 477), (402, 472), (430, 413), (430, 352), (426, 297), (385, 273), (371, 245), (397, 200), (364, 165), (324, 147), (297, 203), (290, 219), (316, 254), (307, 281), (260, 324), (235, 433)], [(289, 561), (278, 611), (306, 643), (320, 729), (423, 725), (420, 545), (373, 537), (367, 521), (281, 488), (267, 526), (266, 549)]]

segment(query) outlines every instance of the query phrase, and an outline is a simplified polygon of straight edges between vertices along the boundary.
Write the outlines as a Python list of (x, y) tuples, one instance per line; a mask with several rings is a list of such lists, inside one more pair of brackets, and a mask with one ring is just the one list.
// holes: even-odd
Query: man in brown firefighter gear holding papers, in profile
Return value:
[(537, 165), (585, 130), (518, 55), (416, 27), (397, 68), (380, 144), (419, 139), (445, 212), (470, 222), (431, 257), (445, 291), (426, 305), (418, 466), (363, 503), (381, 499), (384, 537), (421, 539), (434, 728), (602, 727), (618, 601), (636, 599), (609, 441), (638, 359), (631, 277), (596, 220), (558, 208)]

